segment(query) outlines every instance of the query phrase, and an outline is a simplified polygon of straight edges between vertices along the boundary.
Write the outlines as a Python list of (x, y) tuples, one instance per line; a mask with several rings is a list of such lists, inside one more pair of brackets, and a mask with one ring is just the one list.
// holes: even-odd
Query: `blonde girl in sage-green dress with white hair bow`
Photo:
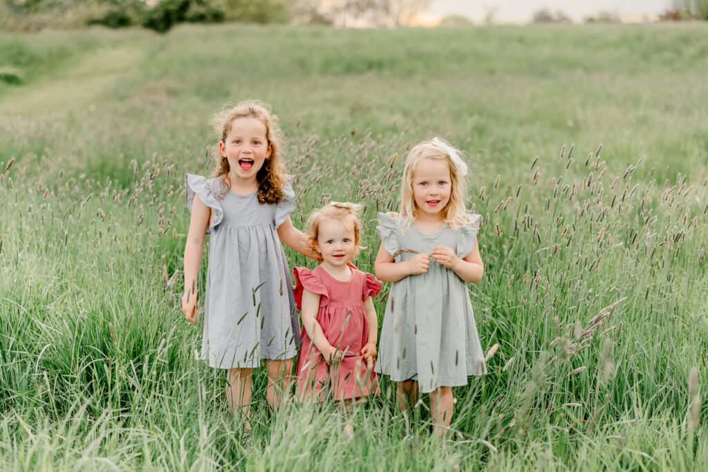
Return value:
[(376, 276), (392, 282), (375, 371), (396, 381), (406, 411), (418, 391), (430, 397), (433, 430), (450, 427), (452, 387), (486, 373), (467, 282), (484, 268), (476, 234), (479, 214), (464, 208), (467, 165), (438, 138), (406, 158), (401, 213), (379, 213), (382, 243)]

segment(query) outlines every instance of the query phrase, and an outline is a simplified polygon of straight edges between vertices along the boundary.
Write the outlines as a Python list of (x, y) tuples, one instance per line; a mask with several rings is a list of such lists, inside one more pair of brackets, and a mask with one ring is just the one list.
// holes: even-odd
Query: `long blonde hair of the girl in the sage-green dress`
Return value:
[[(457, 151), (457, 154), (461, 155), (462, 153)], [(447, 154), (445, 149), (435, 146), (430, 140), (413, 146), (413, 149), (406, 157), (401, 181), (401, 198), (399, 200), (401, 202), (401, 228), (408, 228), (418, 218), (418, 207), (413, 197), (413, 174), (416, 172), (418, 162), (423, 159), (444, 161), (450, 168), (452, 190), (450, 191), (450, 201), (441, 210), (442, 219), (450, 228), (459, 229), (459, 226), (469, 222), (469, 214), (464, 207), (464, 197), (467, 195), (467, 180), (460, 175), (457, 166), (450, 159), (450, 154)]]

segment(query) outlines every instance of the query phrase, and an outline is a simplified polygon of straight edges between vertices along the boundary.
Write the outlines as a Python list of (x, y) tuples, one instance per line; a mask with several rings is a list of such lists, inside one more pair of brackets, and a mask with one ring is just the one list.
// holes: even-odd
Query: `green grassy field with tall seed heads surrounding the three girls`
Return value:
[[(708, 470), (706, 25), (0, 33), (0, 67), (1, 469)], [(295, 226), (366, 205), (362, 270), (407, 149), (467, 154), (498, 350), (447, 438), (388, 381), (273, 414), (262, 373), (241, 437), (176, 301), (184, 174), (243, 98), (280, 115)]]

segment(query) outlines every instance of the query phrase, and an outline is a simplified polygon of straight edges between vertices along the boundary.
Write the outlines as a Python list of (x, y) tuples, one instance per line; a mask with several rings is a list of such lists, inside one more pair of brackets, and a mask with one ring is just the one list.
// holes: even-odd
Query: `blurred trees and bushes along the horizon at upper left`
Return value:
[(143, 26), (164, 33), (178, 23), (400, 25), (430, 0), (0, 0), (0, 28), (37, 30)]

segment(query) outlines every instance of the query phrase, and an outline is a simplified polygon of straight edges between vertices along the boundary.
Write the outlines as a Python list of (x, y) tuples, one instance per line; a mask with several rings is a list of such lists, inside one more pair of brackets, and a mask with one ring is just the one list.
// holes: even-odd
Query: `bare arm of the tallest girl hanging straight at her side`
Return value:
[(199, 315), (197, 306), (197, 275), (202, 263), (204, 240), (209, 227), (211, 209), (194, 196), (192, 217), (189, 220), (187, 243), (184, 246), (184, 294), (182, 296), (182, 311), (188, 321), (195, 322)]

